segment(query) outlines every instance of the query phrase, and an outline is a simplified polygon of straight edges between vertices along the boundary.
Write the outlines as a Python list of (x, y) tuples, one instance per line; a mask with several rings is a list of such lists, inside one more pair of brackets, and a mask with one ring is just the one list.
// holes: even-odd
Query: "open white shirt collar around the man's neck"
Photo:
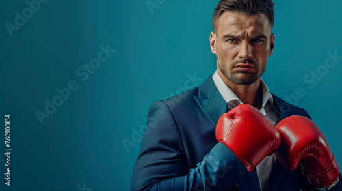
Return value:
[[(235, 104), (242, 104), (241, 100), (237, 98), (235, 93), (231, 91), (231, 89), (224, 83), (222, 78), (218, 75), (218, 71), (215, 71), (215, 74), (213, 74), (213, 81), (216, 85), (216, 88), (218, 89), (218, 92), (222, 95), (224, 100), (227, 102), (227, 104), (235, 103)], [(263, 87), (263, 102), (262, 102), (262, 108), (265, 107), (267, 104), (267, 101), (269, 100), (271, 106), (273, 106), (273, 98), (272, 94), (269, 91), (266, 83), (261, 79), (260, 80), (260, 85)], [(237, 103), (238, 101), (238, 103)]]

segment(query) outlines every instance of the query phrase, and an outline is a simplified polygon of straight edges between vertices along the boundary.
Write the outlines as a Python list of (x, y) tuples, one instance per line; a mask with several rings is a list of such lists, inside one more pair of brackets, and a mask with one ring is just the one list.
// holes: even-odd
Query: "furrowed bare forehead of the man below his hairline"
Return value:
[(239, 32), (248, 29), (249, 31), (266, 32), (271, 28), (267, 16), (263, 13), (247, 16), (239, 12), (226, 11), (220, 16), (218, 23), (219, 31), (221, 29)]

